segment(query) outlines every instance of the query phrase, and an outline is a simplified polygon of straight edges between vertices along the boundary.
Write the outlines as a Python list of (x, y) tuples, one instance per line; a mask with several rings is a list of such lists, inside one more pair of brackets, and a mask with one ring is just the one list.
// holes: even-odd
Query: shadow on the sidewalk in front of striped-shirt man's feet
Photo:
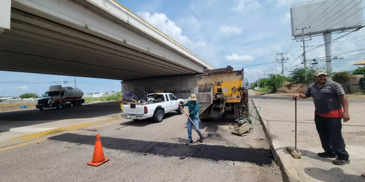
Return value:
[(324, 182), (361, 182), (365, 181), (365, 178), (359, 175), (345, 174), (343, 170), (339, 167), (334, 167), (330, 170), (308, 167), (304, 169), (304, 172), (314, 179)]

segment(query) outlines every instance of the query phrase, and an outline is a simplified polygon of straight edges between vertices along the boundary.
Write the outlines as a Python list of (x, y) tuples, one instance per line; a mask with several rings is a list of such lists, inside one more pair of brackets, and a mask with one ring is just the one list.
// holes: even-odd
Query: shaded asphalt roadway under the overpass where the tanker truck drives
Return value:
[(120, 107), (115, 101), (96, 104), (83, 104), (76, 107), (47, 108), (43, 111), (38, 109), (0, 112), (0, 122), (3, 121), (35, 121), (35, 120), (63, 120), (95, 118), (111, 114), (119, 114)]

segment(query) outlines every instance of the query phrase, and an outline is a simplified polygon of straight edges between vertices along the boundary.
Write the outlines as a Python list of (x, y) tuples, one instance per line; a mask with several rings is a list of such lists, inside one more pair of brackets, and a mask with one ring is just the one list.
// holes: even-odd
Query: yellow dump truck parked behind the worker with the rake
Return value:
[(197, 75), (198, 87), (195, 90), (199, 103), (201, 121), (233, 115), (236, 119), (249, 116), (248, 90), (243, 69), (234, 71), (233, 67), (215, 70), (204, 69)]

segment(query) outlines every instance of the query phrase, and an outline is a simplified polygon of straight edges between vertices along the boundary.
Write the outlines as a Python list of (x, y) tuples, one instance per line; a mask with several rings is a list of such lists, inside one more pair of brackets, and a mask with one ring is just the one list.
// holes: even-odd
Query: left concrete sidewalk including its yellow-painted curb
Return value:
[[(116, 120), (118, 115), (97, 118), (45, 120), (38, 121), (1, 121), (0, 147), (30, 141), (55, 132), (77, 130)], [(27, 123), (24, 126), (24, 123)], [(39, 123), (39, 124), (32, 124)]]

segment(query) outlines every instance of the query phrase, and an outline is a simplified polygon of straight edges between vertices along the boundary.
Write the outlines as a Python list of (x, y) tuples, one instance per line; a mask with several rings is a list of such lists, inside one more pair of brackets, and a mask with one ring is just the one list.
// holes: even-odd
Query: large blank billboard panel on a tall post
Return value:
[(290, 9), (292, 36), (318, 35), (357, 29), (364, 25), (362, 0), (313, 0), (292, 5)]

